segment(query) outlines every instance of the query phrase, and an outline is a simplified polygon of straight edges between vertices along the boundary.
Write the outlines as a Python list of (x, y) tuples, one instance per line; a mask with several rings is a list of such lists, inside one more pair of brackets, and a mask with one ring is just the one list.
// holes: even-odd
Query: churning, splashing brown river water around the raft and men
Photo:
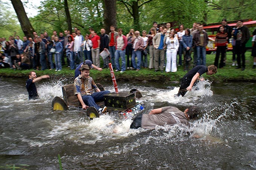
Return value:
[[(119, 91), (137, 88), (147, 114), (153, 108), (197, 105), (201, 114), (190, 127), (129, 129), (131, 118), (102, 115), (88, 120), (78, 108), (52, 111), (61, 85), (50, 78), (37, 83), (40, 98), (28, 100), (25, 79), (0, 79), (0, 169), (58, 170), (255, 170), (255, 83), (200, 82), (185, 97), (173, 97), (154, 82), (118, 83)], [(111, 83), (103, 83), (114, 92)], [(171, 85), (171, 84), (170, 84)], [(176, 85), (178, 86), (178, 85)], [(199, 138), (195, 138), (199, 137)]]

